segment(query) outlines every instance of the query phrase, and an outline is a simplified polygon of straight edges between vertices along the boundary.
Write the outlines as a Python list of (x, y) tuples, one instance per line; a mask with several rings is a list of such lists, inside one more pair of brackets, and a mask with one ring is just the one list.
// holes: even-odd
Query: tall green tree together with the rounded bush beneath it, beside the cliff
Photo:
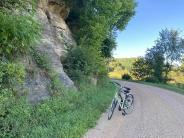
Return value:
[[(124, 30), (134, 15), (136, 6), (134, 0), (113, 2), (111, 0), (70, 0), (67, 3), (71, 7), (71, 12), (66, 21), (74, 34), (79, 50), (75, 48), (70, 52), (73, 58), (68, 54), (64, 61), (65, 71), (71, 78), (86, 75), (95, 78), (106, 76), (105, 61), (111, 57), (112, 49), (116, 47), (115, 32)], [(79, 54), (75, 54), (81, 49), (88, 56), (81, 58)], [(76, 62), (78, 59), (80, 63)], [(85, 63), (85, 67), (80, 71), (82, 63)]]

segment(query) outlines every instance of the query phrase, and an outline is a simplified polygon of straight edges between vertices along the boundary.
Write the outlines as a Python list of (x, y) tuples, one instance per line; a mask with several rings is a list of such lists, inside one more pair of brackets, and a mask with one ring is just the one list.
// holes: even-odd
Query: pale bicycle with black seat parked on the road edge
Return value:
[(122, 111), (122, 115), (130, 114), (134, 108), (134, 96), (130, 92), (131, 89), (128, 87), (123, 87), (117, 82), (113, 83), (115, 83), (119, 87), (119, 90), (115, 93), (115, 96), (112, 100), (108, 112), (108, 120), (112, 118), (112, 115), (117, 105), (119, 111)]

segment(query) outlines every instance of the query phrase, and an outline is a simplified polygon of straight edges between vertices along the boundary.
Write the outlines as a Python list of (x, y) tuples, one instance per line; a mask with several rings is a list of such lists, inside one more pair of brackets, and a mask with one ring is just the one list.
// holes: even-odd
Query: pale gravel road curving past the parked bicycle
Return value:
[(184, 95), (143, 84), (121, 83), (134, 94), (132, 114), (122, 116), (116, 109), (109, 121), (107, 112), (103, 113), (84, 138), (184, 138)]

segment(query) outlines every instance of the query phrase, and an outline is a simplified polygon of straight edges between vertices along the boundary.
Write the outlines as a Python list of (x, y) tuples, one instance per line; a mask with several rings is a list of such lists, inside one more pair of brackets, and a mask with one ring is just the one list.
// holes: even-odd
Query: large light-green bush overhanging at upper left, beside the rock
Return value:
[(0, 11), (0, 57), (14, 59), (27, 53), (39, 34), (40, 25), (31, 17)]

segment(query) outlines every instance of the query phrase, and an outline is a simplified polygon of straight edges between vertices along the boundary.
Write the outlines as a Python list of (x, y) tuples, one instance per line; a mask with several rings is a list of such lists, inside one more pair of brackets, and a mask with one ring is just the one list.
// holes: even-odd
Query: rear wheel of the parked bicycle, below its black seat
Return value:
[(127, 115), (132, 113), (134, 109), (134, 96), (132, 94), (129, 94), (126, 96), (125, 104), (123, 108), (123, 114)]

